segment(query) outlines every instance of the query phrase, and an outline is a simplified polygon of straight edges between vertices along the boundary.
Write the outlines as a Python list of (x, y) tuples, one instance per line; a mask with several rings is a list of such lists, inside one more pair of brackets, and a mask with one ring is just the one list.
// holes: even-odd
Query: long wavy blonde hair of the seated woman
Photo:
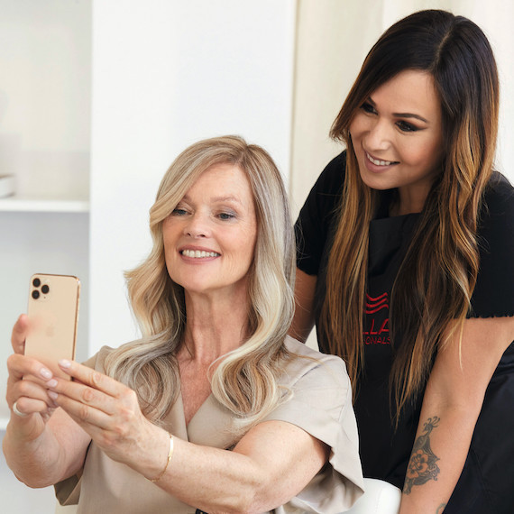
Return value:
[(187, 324), (184, 290), (166, 269), (162, 222), (195, 180), (220, 163), (234, 164), (246, 174), (258, 228), (249, 271), (250, 335), (220, 358), (210, 378), (211, 389), (245, 426), (264, 418), (288, 396), (277, 383), (283, 361), (289, 358), (284, 339), (294, 312), (295, 243), (288, 197), (266, 151), (238, 136), (216, 137), (182, 151), (161, 181), (150, 210), (150, 255), (125, 273), (142, 338), (124, 344), (106, 359), (106, 372), (136, 391), (142, 412), (157, 424), (179, 394), (176, 355)]

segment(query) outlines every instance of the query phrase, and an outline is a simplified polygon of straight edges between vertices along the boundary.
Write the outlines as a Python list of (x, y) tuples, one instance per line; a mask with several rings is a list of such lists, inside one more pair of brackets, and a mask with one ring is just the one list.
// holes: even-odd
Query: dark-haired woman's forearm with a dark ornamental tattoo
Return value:
[(441, 514), (464, 468), (480, 408), (424, 406), (399, 514)]

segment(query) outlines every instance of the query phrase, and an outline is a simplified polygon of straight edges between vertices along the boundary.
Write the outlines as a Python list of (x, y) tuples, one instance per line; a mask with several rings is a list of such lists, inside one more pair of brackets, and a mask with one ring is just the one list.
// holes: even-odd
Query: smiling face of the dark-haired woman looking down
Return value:
[(350, 124), (363, 182), (399, 190), (397, 214), (420, 212), (440, 172), (441, 102), (424, 71), (400, 72), (373, 91)]

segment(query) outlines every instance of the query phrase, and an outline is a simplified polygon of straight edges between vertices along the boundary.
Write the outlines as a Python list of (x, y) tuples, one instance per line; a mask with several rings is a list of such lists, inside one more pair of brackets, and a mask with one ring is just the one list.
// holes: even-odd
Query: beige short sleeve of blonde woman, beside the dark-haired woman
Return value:
[(363, 493), (350, 380), (339, 357), (314, 351), (305, 355), (309, 352), (307, 347), (300, 351), (303, 354), (295, 366), (303, 369), (299, 373), (298, 369), (288, 370), (289, 377), (299, 377), (289, 384), (292, 398), (264, 421), (279, 420), (296, 425), (328, 445), (331, 451), (323, 470), (283, 511), (288, 512), (290, 507), (307, 512), (342, 512), (350, 509)]

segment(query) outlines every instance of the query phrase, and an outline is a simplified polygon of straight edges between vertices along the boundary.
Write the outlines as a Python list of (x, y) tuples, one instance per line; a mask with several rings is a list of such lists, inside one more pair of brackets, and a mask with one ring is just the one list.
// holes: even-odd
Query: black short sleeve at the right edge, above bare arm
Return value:
[(471, 317), (514, 316), (514, 188), (498, 172), (486, 189), (477, 235), (480, 270)]

